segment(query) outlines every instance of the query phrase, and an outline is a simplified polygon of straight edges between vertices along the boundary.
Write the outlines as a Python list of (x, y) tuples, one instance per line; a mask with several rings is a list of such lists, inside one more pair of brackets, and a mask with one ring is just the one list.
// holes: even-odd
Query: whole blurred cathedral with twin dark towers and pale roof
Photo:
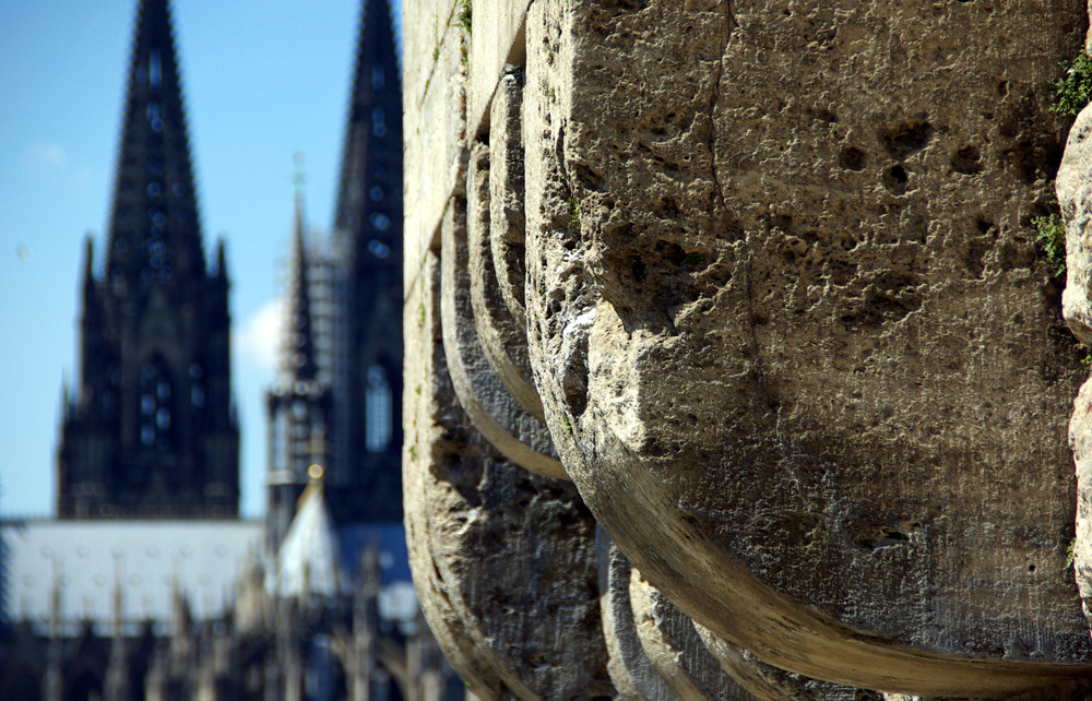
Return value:
[(57, 520), (0, 528), (0, 698), (447, 699), (401, 499), (401, 79), (365, 0), (328, 236), (298, 186), (264, 522), (238, 518), (223, 241), (205, 260), (167, 0), (141, 0), (82, 280)]

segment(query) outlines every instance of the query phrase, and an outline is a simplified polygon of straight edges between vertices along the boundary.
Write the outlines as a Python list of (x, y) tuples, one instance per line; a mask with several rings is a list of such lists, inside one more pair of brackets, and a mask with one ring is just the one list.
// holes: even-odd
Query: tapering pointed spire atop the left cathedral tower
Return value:
[(128, 288), (204, 274), (167, 0), (141, 0), (114, 191), (107, 278)]

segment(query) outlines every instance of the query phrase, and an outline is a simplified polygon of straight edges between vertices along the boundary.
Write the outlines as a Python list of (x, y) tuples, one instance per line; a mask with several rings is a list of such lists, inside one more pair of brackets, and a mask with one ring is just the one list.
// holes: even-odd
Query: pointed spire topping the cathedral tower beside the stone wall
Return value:
[(401, 164), (402, 88), (388, 0), (364, 2), (349, 99), (334, 228), (359, 237), (371, 205), (402, 178), (394, 166)]

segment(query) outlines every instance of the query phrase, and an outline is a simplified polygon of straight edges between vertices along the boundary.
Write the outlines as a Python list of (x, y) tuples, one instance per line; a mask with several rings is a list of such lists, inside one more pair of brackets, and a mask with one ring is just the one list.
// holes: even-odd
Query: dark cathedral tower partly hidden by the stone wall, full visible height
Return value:
[(337, 520), (402, 520), (402, 84), (388, 0), (365, 0), (333, 249), (327, 477)]

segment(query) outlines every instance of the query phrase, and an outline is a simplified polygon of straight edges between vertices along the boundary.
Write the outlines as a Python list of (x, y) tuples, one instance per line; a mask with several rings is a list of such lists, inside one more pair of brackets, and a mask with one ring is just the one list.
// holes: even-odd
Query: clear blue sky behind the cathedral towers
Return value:
[[(103, 250), (135, 0), (0, 2), (0, 514), (52, 513), (73, 383), (82, 241)], [(244, 515), (264, 511), (264, 389), (304, 154), (306, 217), (332, 219), (359, 0), (175, 0), (206, 249), (223, 236), (242, 419)], [(100, 262), (100, 261), (96, 261)]]

